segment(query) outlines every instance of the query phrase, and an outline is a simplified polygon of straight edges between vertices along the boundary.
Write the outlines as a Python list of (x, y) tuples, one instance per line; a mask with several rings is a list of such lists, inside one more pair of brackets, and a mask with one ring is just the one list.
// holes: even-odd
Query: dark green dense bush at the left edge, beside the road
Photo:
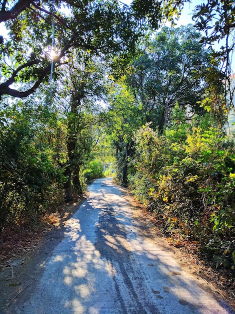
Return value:
[(63, 170), (54, 160), (55, 151), (23, 114), (12, 110), (13, 118), (0, 124), (0, 230), (32, 227), (63, 199)]

